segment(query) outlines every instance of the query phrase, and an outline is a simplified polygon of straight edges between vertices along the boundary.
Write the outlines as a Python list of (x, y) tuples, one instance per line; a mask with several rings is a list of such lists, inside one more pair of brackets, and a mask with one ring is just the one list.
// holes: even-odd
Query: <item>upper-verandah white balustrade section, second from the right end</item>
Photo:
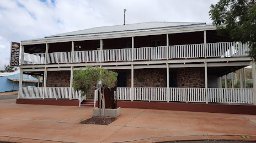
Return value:
[(205, 56), (204, 44), (175, 45), (168, 47), (168, 58), (200, 58)]

